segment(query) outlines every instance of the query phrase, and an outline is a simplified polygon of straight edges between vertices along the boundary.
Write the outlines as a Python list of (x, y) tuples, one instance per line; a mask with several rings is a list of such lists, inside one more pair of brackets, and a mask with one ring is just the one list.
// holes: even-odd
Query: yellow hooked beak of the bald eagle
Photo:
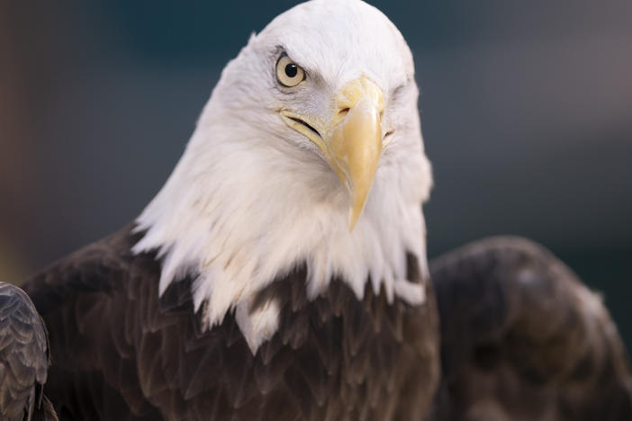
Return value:
[(382, 156), (383, 113), (384, 94), (366, 77), (349, 82), (334, 96), (334, 111), (328, 121), (308, 121), (304, 116), (281, 110), (285, 123), (321, 149), (347, 188), (351, 197), (349, 231), (365, 208)]

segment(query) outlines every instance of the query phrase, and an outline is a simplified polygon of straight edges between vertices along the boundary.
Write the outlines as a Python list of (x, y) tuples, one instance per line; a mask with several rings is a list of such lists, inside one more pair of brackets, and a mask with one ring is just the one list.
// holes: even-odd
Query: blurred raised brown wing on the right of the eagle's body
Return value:
[(440, 420), (632, 419), (632, 378), (600, 297), (541, 246), (496, 237), (430, 264)]

